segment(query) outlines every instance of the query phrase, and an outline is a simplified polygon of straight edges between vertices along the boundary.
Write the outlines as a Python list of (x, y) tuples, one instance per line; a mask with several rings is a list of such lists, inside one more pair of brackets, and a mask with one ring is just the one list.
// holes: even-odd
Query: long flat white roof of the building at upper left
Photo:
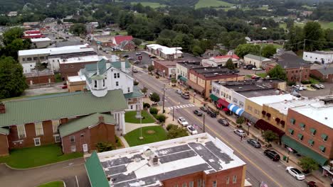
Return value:
[(25, 56), (25, 55), (42, 55), (42, 54), (50, 54), (51, 52), (63, 52), (65, 53), (70, 53), (66, 52), (68, 50), (77, 50), (81, 48), (86, 48), (89, 47), (88, 44), (85, 45), (71, 45), (71, 46), (65, 46), (65, 47), (52, 47), (52, 48), (46, 48), (46, 49), (35, 49), (35, 50), (19, 50), (18, 51), (18, 56)]

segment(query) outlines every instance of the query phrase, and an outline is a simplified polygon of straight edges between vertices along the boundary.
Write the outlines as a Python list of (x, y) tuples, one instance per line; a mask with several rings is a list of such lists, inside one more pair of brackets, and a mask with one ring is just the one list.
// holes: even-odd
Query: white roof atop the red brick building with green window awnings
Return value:
[(296, 111), (307, 118), (312, 118), (323, 125), (333, 128), (333, 105), (325, 105), (323, 101), (317, 101), (315, 103), (308, 104), (306, 106), (300, 106), (292, 108), (291, 110)]

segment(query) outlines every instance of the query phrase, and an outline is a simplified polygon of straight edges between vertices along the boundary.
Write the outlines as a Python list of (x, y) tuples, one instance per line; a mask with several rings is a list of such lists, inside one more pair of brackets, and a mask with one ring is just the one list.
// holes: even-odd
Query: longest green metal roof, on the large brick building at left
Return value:
[(0, 126), (58, 120), (128, 108), (121, 89), (108, 91), (106, 96), (100, 98), (82, 91), (28, 98), (24, 101), (8, 101), (4, 104), (6, 113), (0, 114)]

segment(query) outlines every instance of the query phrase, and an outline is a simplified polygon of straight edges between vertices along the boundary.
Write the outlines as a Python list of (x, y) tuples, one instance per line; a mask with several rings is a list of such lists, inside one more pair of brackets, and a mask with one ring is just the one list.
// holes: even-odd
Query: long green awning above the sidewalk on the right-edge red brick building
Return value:
[(299, 142), (297, 142), (296, 140), (292, 140), (292, 138), (287, 137), (286, 135), (283, 135), (281, 140), (285, 145), (291, 147), (292, 149), (295, 149), (302, 156), (311, 157), (321, 166), (324, 166), (324, 164), (328, 160), (327, 158), (322, 157), (322, 155), (318, 154), (317, 152), (312, 151), (312, 149), (301, 145)]

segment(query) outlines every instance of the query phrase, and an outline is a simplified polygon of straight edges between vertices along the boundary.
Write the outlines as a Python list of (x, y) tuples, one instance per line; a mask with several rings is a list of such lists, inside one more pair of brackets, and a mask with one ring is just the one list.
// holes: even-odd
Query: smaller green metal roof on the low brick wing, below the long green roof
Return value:
[(94, 113), (92, 115), (87, 115), (77, 120), (70, 120), (70, 122), (59, 126), (60, 137), (65, 137), (79, 130), (90, 127), (91, 125), (96, 125), (99, 123), (99, 117), (104, 117), (104, 122), (108, 124), (115, 124), (115, 119), (110, 114), (104, 113)]

